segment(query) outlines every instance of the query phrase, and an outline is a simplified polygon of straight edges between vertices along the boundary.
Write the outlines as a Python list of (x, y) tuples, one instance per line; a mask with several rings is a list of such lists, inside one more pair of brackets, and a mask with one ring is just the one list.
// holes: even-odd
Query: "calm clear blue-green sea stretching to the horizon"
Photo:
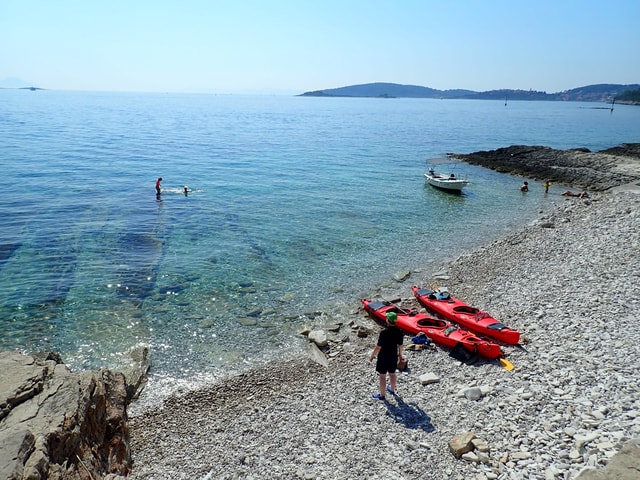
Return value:
[(0, 90), (0, 348), (117, 368), (149, 345), (158, 390), (303, 348), (304, 314), (564, 188), (461, 165), (473, 183), (452, 196), (425, 185), (427, 158), (640, 141), (638, 107), (602, 106)]

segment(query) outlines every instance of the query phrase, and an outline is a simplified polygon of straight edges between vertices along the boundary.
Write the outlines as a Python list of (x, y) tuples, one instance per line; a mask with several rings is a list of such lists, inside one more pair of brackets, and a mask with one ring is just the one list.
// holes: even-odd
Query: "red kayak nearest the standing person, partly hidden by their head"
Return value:
[(456, 347), (458, 344), (469, 352), (477, 352), (478, 355), (495, 359), (504, 356), (500, 345), (487, 339), (477, 337), (471, 332), (451, 324), (446, 320), (434, 318), (426, 313), (417, 310), (409, 310), (388, 302), (373, 300), (360, 300), (365, 311), (379, 324), (387, 324), (387, 312), (395, 312), (398, 315), (396, 325), (401, 330), (410, 335), (417, 335), (420, 332), (433, 340), (435, 343), (445, 347)]

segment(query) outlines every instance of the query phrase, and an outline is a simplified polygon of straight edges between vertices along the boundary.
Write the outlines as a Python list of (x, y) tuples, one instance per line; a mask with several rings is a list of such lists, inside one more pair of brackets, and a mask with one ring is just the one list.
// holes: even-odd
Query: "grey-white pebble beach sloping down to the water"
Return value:
[[(633, 184), (557, 196), (523, 229), (365, 292), (420, 309), (411, 285), (446, 286), (522, 332), (503, 347), (513, 370), (437, 346), (407, 351), (396, 395), (375, 400), (379, 327), (354, 299), (310, 325), (328, 332), (324, 364), (285, 353), (161, 406), (132, 405), (129, 478), (551, 480), (602, 469), (640, 437), (639, 207)], [(459, 457), (450, 442), (465, 433), (483, 447)]]

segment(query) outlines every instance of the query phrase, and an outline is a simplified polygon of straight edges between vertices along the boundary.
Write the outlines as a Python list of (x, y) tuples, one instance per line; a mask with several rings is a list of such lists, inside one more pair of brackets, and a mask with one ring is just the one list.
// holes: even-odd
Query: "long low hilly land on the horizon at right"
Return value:
[(365, 83), (348, 87), (305, 92), (301, 97), (440, 98), (467, 100), (556, 100), (564, 102), (607, 102), (640, 105), (640, 84), (598, 84), (557, 93), (536, 90), (437, 90), (418, 85)]

